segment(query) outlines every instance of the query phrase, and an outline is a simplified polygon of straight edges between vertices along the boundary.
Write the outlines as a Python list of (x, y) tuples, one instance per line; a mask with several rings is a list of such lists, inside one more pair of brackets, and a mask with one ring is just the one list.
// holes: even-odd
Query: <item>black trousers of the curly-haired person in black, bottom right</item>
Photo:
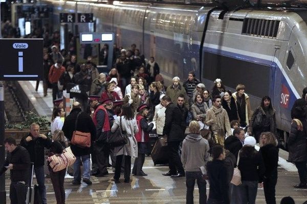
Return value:
[(275, 186), (277, 184), (277, 171), (264, 180), (264, 191), (267, 204), (276, 204)]

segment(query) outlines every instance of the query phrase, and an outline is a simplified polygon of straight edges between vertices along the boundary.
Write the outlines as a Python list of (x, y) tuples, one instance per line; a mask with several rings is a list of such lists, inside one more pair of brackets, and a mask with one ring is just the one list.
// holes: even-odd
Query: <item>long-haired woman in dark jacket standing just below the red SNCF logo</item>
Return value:
[(275, 110), (271, 104), (271, 98), (264, 96), (260, 106), (254, 111), (247, 129), (248, 135), (254, 135), (258, 142), (260, 133), (271, 132), (277, 136)]

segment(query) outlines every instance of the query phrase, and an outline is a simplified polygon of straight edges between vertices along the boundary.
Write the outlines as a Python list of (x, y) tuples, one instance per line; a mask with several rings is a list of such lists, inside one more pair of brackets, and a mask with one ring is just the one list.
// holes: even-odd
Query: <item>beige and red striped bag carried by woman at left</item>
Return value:
[(61, 154), (55, 154), (51, 157), (48, 157), (49, 166), (51, 167), (53, 172), (57, 172), (67, 168), (72, 165), (76, 161), (76, 157), (74, 156), (70, 147), (63, 149)]

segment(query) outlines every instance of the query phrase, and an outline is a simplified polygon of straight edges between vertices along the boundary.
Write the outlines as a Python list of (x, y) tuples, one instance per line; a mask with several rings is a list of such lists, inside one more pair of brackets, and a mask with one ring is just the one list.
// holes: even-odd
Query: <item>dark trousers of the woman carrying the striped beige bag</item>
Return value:
[(57, 172), (53, 172), (49, 169), (50, 179), (52, 182), (56, 204), (65, 204), (65, 189), (64, 189), (64, 177), (66, 168)]

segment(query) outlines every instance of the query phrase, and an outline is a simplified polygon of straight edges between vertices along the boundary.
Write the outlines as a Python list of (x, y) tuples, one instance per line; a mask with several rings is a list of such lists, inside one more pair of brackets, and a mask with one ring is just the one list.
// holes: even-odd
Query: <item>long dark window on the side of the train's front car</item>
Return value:
[(219, 78), (233, 89), (239, 83), (245, 84), (247, 92), (258, 98), (270, 92), (270, 86), (259, 86), (270, 84), (269, 66), (208, 52), (203, 54), (203, 64), (202, 77), (212, 82)]

